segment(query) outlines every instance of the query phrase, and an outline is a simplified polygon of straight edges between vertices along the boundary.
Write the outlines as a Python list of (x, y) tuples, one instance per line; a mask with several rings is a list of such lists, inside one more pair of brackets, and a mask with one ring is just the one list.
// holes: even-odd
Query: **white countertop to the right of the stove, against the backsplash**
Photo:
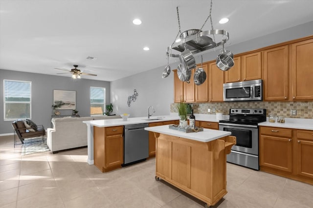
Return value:
[(268, 118), (266, 122), (259, 123), (260, 126), (270, 126), (270, 127), (281, 127), (281, 128), (297, 128), (297, 129), (306, 129), (313, 130), (313, 119), (292, 119), (285, 118), (285, 123), (271, 123), (268, 122)]

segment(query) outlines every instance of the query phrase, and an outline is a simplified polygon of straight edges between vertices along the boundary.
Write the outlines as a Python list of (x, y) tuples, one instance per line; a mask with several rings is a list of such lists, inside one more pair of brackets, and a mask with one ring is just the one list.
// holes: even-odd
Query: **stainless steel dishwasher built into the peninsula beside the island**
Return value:
[(148, 124), (125, 125), (124, 164), (131, 165), (149, 157), (149, 132), (144, 130)]

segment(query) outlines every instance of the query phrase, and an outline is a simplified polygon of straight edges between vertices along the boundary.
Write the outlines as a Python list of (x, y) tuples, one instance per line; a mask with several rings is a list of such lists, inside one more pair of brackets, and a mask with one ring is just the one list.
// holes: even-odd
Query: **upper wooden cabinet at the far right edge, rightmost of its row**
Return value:
[(313, 39), (293, 43), (291, 48), (292, 100), (313, 100)]

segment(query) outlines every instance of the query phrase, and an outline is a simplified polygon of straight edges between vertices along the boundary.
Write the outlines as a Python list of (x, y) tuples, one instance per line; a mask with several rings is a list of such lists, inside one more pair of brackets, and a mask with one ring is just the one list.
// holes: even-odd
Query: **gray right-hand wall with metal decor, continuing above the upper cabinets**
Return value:
[[(229, 31), (229, 33), (231, 40), (232, 33), (231, 31)], [(234, 54), (239, 54), (310, 35), (313, 35), (313, 21), (273, 34), (251, 39), (240, 44), (226, 45), (226, 47)], [(216, 59), (219, 51), (220, 49), (203, 53), (203, 62)], [(164, 62), (166, 62), (165, 54)], [(196, 62), (201, 62), (199, 56), (196, 57)], [(177, 59), (177, 62), (170, 65), (172, 69), (175, 69), (178, 64), (179, 60)], [(174, 78), (173, 73), (171, 73), (169, 77), (162, 79), (161, 74), (163, 70), (164, 66), (161, 66), (131, 77), (111, 82), (111, 102), (116, 113), (129, 113), (131, 114), (131, 117), (147, 116), (148, 106), (154, 105), (156, 108), (156, 113), (154, 113), (154, 115), (168, 115), (170, 113), (170, 104), (174, 102)], [(133, 94), (134, 89), (137, 90), (139, 96), (134, 103), (131, 103), (131, 107), (128, 107), (127, 98), (129, 95)]]

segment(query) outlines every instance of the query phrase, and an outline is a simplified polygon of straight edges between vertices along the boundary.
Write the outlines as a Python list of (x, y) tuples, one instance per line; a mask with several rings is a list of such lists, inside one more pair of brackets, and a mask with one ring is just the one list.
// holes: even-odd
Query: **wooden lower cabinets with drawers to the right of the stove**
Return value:
[(313, 131), (260, 126), (260, 169), (313, 185)]

